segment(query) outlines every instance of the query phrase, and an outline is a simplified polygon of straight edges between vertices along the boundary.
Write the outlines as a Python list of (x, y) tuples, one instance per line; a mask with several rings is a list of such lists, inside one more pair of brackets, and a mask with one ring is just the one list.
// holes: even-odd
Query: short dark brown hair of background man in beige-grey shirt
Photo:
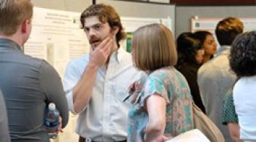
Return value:
[(241, 20), (236, 17), (227, 17), (217, 24), (215, 34), (220, 45), (231, 45), (243, 30), (244, 25)]

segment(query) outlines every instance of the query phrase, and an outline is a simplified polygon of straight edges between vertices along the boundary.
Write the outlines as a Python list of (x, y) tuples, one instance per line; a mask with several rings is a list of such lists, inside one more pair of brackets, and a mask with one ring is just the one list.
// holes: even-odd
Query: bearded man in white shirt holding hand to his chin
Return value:
[(131, 55), (120, 46), (123, 25), (109, 5), (91, 5), (80, 17), (90, 42), (89, 54), (69, 61), (64, 89), (69, 110), (79, 114), (79, 141), (126, 141), (128, 109), (126, 89), (139, 79)]

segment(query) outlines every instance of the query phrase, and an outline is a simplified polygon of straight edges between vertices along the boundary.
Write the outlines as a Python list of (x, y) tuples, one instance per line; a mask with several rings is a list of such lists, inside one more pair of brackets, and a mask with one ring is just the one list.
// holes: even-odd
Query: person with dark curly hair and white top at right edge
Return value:
[(242, 33), (233, 41), (230, 68), (238, 76), (233, 100), (242, 141), (256, 141), (256, 31)]

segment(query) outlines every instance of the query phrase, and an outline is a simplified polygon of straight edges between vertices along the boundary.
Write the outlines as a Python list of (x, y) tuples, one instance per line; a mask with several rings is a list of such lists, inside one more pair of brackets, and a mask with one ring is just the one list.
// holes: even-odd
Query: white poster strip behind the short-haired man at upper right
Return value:
[[(223, 17), (224, 18), (224, 17)], [(256, 17), (240, 17), (239, 18), (244, 23), (244, 31), (256, 30)], [(207, 17), (192, 17), (191, 18), (191, 31), (210, 31), (214, 33), (217, 23), (222, 20), (222, 18), (207, 18)]]

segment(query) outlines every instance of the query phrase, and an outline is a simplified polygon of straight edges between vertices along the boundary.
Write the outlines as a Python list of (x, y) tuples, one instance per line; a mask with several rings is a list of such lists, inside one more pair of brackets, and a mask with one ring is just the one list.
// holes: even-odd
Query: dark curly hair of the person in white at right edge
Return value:
[(234, 40), (230, 67), (238, 77), (256, 75), (256, 31), (243, 33)]

